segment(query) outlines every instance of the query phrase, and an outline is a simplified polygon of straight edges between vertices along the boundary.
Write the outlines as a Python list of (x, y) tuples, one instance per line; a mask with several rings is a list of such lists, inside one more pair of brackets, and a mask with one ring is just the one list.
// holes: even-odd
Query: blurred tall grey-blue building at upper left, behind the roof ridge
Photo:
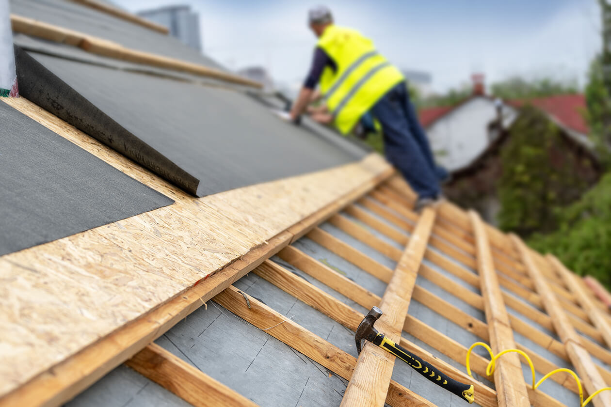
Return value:
[(144, 10), (137, 14), (167, 27), (170, 30), (170, 35), (178, 38), (189, 47), (202, 51), (199, 15), (191, 11), (191, 6), (167, 5), (159, 7), (159, 9)]

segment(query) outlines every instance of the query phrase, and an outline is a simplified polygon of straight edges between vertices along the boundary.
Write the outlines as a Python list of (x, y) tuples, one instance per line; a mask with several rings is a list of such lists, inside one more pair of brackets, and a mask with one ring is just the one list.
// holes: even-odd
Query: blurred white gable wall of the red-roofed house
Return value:
[[(504, 107), (508, 121), (514, 111)], [(456, 107), (427, 129), (431, 147), (439, 164), (453, 171), (469, 164), (488, 146), (488, 124), (497, 117), (494, 101), (473, 98)]]

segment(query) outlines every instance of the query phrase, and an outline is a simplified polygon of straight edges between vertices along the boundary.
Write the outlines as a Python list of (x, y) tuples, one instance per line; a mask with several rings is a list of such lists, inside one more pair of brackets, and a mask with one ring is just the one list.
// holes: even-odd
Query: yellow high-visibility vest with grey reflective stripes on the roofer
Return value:
[(318, 46), (337, 64), (335, 72), (324, 68), (320, 91), (343, 134), (390, 88), (404, 81), (403, 74), (376, 51), (373, 41), (356, 30), (331, 25)]

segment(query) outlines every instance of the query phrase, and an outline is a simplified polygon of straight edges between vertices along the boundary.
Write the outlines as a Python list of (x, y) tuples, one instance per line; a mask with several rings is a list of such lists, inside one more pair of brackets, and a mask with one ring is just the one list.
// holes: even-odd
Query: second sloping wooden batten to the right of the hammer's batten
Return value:
[[(562, 340), (566, 353), (577, 370), (577, 374), (579, 374), (584, 383), (585, 390), (588, 394), (593, 394), (598, 389), (605, 387), (605, 381), (592, 361), (590, 354), (582, 345), (579, 334), (577, 334), (573, 325), (571, 325), (566, 317), (560, 301), (558, 301), (551, 287), (549, 287), (544, 273), (533, 258), (533, 254), (530, 253), (529, 248), (526, 247), (518, 236), (511, 235), (511, 240), (520, 253), (522, 261), (535, 283), (538, 294), (541, 295), (544, 308), (552, 318), (554, 328)], [(595, 407), (611, 407), (611, 394), (609, 392), (602, 392), (593, 398), (592, 403)]]

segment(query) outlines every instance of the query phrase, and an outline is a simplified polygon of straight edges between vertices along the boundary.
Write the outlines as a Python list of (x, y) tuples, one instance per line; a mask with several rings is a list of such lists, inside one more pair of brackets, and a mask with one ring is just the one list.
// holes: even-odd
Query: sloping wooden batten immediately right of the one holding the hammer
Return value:
[[(479, 215), (470, 211), (469, 216), (475, 232), (477, 246), (477, 268), (480, 274), (481, 295), (484, 299), (484, 312), (488, 322), (488, 332), (492, 351), (515, 349), (510, 320), (503, 303), (499, 279), (494, 268), (494, 260), (486, 230)], [(499, 407), (529, 407), (529, 395), (522, 375), (522, 366), (518, 355), (503, 355), (496, 362), (494, 383), (497, 389)]]

